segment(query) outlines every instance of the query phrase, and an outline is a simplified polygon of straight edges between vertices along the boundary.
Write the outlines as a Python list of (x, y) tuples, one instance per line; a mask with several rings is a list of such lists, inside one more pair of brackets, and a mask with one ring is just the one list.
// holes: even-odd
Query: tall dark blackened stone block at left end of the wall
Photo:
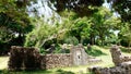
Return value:
[(37, 70), (40, 69), (40, 54), (36, 48), (11, 47), (9, 70)]

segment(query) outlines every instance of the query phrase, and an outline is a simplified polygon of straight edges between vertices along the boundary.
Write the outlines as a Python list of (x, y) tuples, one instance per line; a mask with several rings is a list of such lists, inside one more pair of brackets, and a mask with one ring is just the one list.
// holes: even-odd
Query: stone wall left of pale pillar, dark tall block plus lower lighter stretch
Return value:
[(40, 54), (36, 48), (13, 46), (10, 51), (9, 70), (37, 70), (52, 69), (72, 65), (71, 53)]

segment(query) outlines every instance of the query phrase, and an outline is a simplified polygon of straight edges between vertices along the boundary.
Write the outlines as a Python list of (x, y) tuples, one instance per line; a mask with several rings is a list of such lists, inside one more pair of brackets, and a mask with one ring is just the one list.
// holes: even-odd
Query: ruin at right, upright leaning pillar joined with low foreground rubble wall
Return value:
[(131, 57), (123, 55), (118, 46), (110, 49), (114, 67), (88, 67), (91, 74), (131, 74)]

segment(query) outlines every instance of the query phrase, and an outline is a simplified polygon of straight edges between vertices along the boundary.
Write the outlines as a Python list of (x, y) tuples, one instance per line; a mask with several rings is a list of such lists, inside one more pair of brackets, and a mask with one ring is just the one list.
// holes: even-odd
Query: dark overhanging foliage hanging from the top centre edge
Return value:
[(104, 0), (51, 0), (51, 3), (57, 8), (57, 12), (73, 10), (80, 16), (91, 15), (96, 9), (88, 7), (99, 7), (104, 3)]

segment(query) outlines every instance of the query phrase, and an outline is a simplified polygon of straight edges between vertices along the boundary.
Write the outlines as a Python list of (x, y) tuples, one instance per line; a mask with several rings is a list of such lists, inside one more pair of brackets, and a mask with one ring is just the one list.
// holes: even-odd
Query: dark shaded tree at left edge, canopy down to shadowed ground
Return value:
[(25, 34), (32, 30), (26, 12), (28, 3), (27, 0), (0, 0), (0, 53), (7, 53), (11, 46), (23, 46)]

